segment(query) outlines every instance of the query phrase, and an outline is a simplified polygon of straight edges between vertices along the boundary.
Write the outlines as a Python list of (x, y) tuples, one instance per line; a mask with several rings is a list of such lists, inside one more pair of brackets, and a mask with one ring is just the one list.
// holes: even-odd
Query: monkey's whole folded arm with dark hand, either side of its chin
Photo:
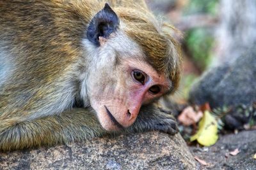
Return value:
[[(0, 123), (1, 124), (1, 123)], [(134, 124), (126, 132), (158, 130), (175, 134), (177, 124), (172, 115), (154, 106), (144, 106)], [(74, 108), (60, 115), (20, 122), (0, 132), (0, 150), (19, 150), (42, 145), (81, 141), (111, 132), (105, 131), (90, 109)], [(113, 133), (113, 132), (112, 132)]]

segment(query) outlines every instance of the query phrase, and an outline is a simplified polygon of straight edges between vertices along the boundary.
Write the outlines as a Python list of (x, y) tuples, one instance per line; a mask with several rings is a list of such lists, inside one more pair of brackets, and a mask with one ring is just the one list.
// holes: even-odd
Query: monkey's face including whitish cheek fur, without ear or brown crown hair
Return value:
[(129, 127), (141, 105), (170, 89), (171, 81), (148, 64), (140, 47), (124, 33), (116, 32), (108, 41), (100, 38), (94, 50), (83, 88), (104, 129)]

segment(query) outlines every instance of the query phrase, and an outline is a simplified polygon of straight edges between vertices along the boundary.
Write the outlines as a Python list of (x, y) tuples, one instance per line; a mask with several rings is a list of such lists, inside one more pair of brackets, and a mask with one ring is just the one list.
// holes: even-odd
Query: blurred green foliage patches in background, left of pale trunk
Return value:
[[(182, 10), (183, 15), (218, 15), (218, 0), (192, 0)], [(186, 30), (184, 44), (188, 46), (189, 55), (200, 71), (211, 64), (214, 34), (212, 27), (195, 27)]]

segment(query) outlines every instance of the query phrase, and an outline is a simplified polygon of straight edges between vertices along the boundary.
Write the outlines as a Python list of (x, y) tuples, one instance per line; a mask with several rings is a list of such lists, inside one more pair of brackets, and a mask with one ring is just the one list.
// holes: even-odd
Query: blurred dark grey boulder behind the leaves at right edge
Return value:
[(250, 105), (256, 101), (256, 50), (246, 50), (234, 62), (207, 71), (189, 92), (193, 104), (219, 106)]

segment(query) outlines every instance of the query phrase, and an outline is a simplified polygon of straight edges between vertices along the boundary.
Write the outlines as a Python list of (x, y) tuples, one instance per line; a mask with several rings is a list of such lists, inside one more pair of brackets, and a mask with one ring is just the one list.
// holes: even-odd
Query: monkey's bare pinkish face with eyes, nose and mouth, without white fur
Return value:
[(163, 95), (170, 85), (162, 74), (139, 60), (122, 60), (115, 69), (92, 76), (90, 103), (102, 127), (109, 131), (133, 124), (141, 105)]

